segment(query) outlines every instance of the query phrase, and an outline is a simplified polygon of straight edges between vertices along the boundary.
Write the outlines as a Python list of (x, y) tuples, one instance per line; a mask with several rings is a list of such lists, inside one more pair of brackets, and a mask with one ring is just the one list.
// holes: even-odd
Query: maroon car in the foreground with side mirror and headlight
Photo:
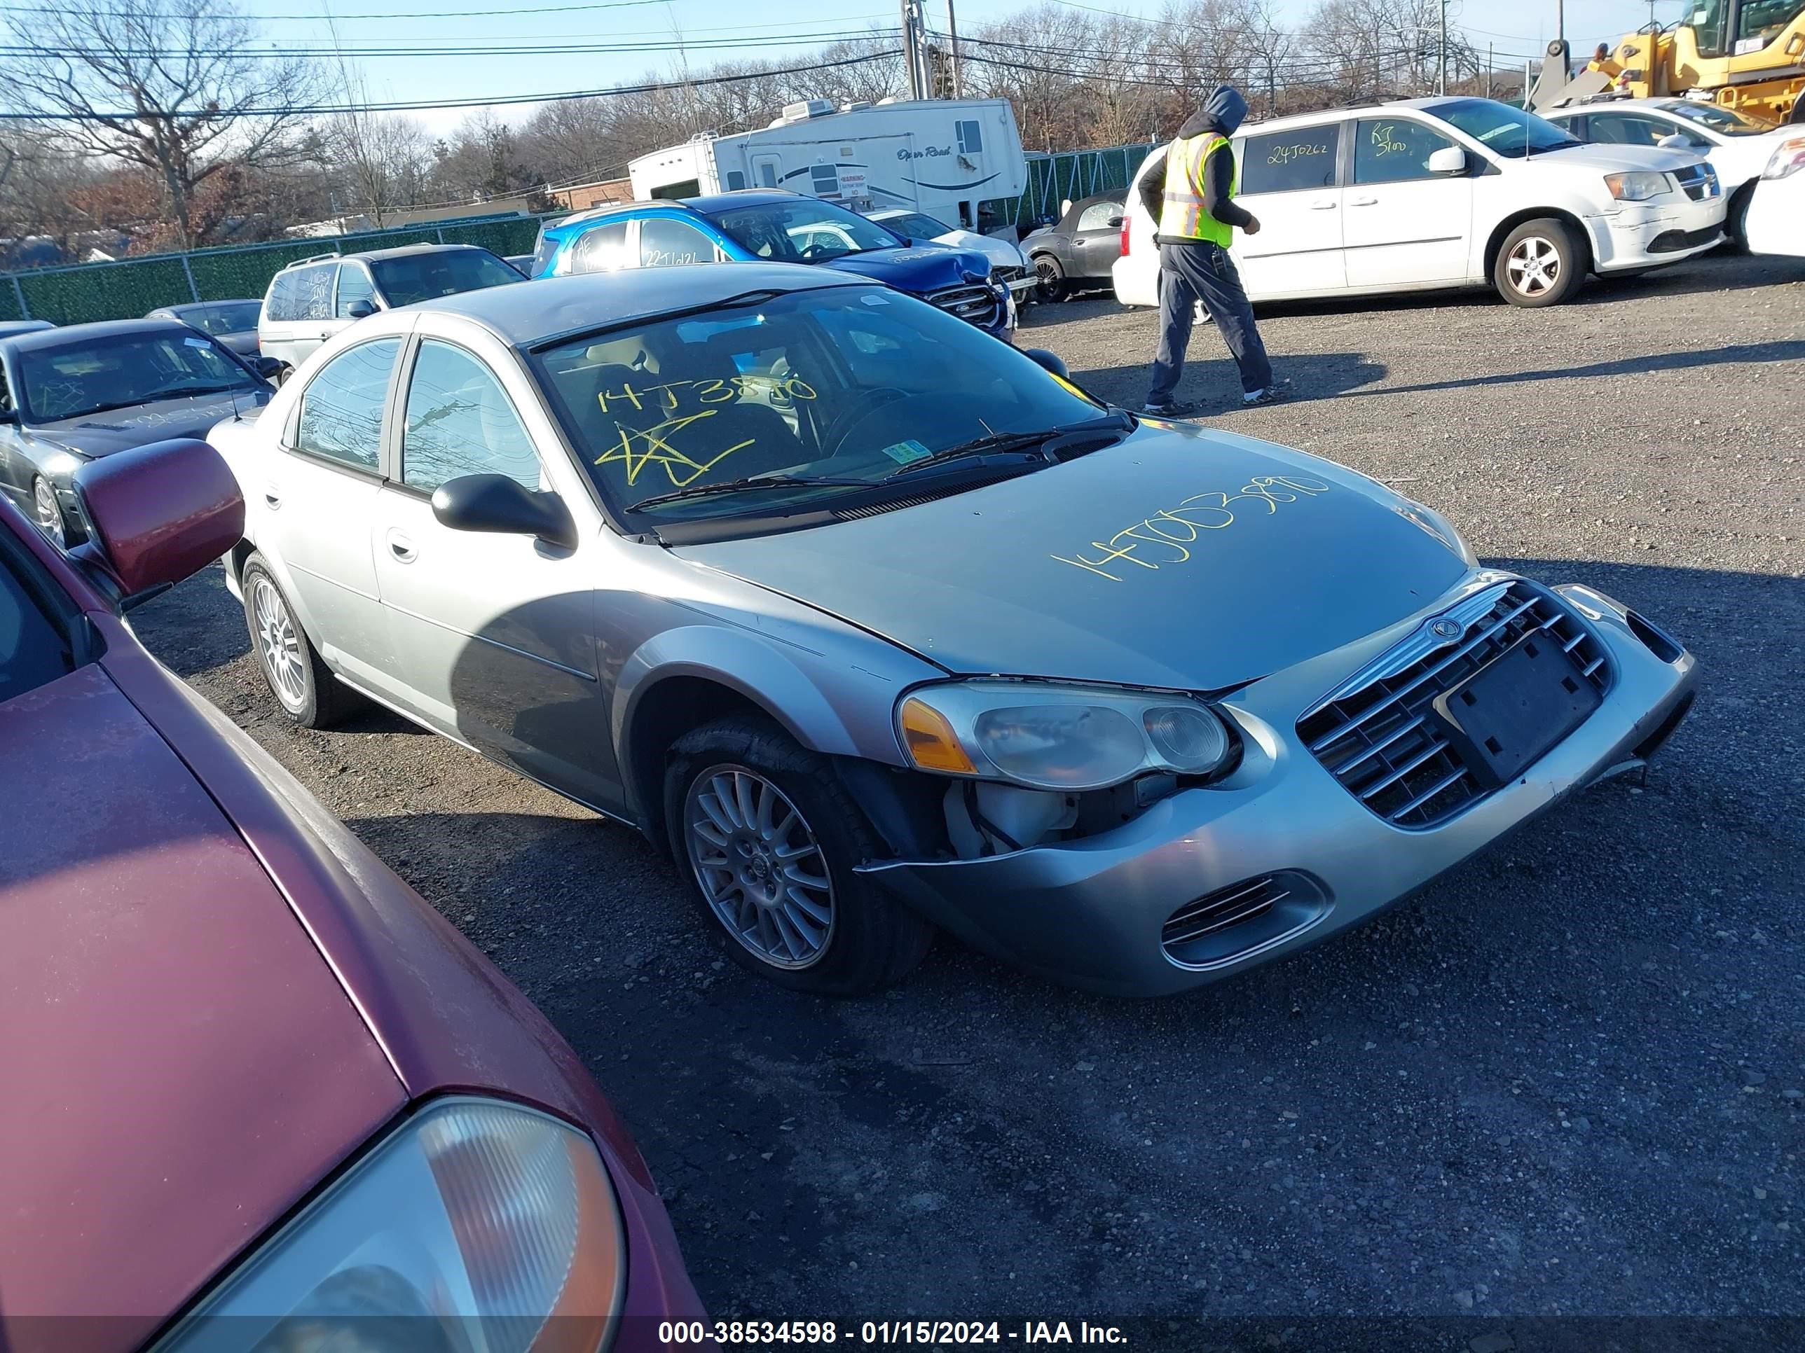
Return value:
[(0, 1349), (702, 1319), (576, 1052), (125, 622), (238, 541), (224, 462), (161, 442), (78, 492), (72, 556), (0, 503)]

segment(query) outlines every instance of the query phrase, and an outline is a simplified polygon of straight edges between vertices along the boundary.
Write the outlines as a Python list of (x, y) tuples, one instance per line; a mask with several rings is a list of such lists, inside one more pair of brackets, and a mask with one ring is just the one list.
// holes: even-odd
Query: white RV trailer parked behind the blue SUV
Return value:
[(787, 188), (852, 211), (912, 207), (973, 229), (978, 202), (1027, 189), (1007, 99), (792, 103), (756, 132), (699, 135), (626, 166), (639, 200)]

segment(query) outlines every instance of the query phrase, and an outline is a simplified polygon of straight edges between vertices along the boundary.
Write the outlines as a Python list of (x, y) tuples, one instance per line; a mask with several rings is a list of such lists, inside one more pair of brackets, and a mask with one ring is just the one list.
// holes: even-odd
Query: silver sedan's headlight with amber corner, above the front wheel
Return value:
[(1052, 682), (926, 686), (897, 705), (897, 729), (921, 770), (1067, 792), (1143, 772), (1211, 776), (1235, 750), (1202, 700)]

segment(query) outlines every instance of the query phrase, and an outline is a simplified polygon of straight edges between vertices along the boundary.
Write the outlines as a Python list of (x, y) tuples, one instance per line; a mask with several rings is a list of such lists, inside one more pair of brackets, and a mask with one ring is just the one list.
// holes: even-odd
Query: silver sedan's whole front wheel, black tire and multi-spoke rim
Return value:
[(782, 987), (866, 996), (933, 943), (928, 922), (854, 871), (881, 851), (834, 767), (774, 723), (724, 718), (679, 738), (664, 823), (702, 916)]

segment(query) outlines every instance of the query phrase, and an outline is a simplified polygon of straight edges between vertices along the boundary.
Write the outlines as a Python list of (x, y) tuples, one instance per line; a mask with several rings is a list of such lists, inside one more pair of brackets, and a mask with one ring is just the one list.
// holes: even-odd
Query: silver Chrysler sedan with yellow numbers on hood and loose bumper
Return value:
[(1227, 976), (1693, 698), (1650, 621), (1421, 503), (823, 269), (383, 312), (215, 442), (292, 720), (370, 698), (637, 826), (818, 992), (937, 927), (1103, 992)]

